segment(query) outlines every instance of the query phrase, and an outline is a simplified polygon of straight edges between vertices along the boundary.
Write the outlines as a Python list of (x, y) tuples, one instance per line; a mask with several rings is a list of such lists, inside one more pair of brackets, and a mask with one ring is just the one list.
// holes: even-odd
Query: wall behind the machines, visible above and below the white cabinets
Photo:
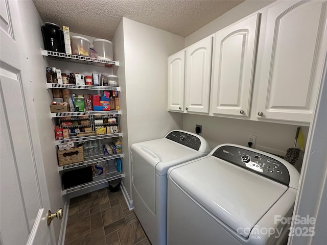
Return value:
[[(185, 46), (189, 46), (229, 24), (255, 13), (272, 2), (274, 1), (243, 2), (186, 37)], [(255, 91), (253, 91), (254, 93)], [(253, 102), (255, 103), (255, 101)], [(271, 122), (192, 114), (183, 115), (183, 130), (195, 132), (196, 124), (202, 125), (202, 136), (209, 141), (212, 148), (227, 142), (247, 145), (246, 136), (247, 134), (252, 134), (257, 136), (256, 149), (279, 156), (285, 156), (287, 149), (294, 146), (297, 128), (297, 125), (284, 125)], [(307, 139), (309, 127), (301, 127), (301, 129), (304, 138)]]

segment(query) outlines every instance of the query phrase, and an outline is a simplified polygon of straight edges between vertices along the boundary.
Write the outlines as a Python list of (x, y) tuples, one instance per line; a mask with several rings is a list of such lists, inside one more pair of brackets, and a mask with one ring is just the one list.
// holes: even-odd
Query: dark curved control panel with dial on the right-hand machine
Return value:
[(264, 154), (259, 154), (236, 146), (224, 145), (218, 148), (213, 156), (282, 184), (289, 185), (290, 183), (290, 175), (286, 166), (278, 160)]

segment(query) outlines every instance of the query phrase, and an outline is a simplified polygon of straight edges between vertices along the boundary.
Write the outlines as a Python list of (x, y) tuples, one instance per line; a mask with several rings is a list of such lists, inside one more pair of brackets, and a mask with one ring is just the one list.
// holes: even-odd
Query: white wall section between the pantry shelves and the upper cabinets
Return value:
[[(182, 127), (182, 115), (167, 111), (167, 70), (168, 56), (184, 47), (184, 38), (127, 18), (123, 18), (123, 32), (127, 120), (122, 123), (127, 123), (123, 137), (128, 133), (130, 148), (132, 143), (161, 138)], [(130, 161), (129, 152), (124, 151), (124, 166)], [(130, 168), (124, 172), (130, 195)]]

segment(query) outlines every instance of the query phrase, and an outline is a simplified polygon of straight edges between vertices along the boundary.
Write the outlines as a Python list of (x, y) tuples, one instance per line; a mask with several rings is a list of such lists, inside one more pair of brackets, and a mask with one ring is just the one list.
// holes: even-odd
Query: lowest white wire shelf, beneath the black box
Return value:
[(111, 180), (115, 180), (115, 179), (119, 179), (119, 178), (123, 178), (125, 177), (125, 174), (123, 172), (118, 172), (118, 171), (113, 171), (111, 173), (108, 173), (106, 175), (102, 175), (102, 176), (97, 176), (97, 177), (93, 177), (93, 181), (82, 184), (82, 185), (77, 185), (71, 188), (67, 188), (67, 189), (63, 189), (61, 190), (61, 194), (65, 195), (68, 193), (72, 193), (78, 190), (82, 190), (91, 186), (95, 186), (95, 185), (99, 185), (101, 183), (105, 183)]

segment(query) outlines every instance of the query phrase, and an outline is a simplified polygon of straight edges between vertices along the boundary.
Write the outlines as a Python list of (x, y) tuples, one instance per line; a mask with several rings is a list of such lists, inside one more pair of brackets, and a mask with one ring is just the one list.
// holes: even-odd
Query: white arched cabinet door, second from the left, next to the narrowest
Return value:
[(204, 38), (186, 48), (186, 112), (209, 112), (213, 37)]

